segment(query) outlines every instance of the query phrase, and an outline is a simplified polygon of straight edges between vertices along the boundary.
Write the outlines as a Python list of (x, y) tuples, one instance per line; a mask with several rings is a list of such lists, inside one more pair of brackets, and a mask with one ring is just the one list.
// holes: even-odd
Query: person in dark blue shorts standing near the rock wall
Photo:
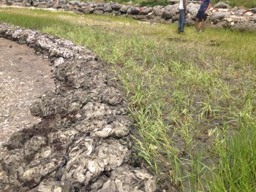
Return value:
[(197, 12), (196, 20), (195, 20), (195, 29), (197, 31), (197, 26), (199, 21), (201, 21), (200, 31), (199, 33), (203, 32), (204, 24), (207, 18), (207, 12), (211, 8), (211, 0), (200, 0), (200, 9)]

